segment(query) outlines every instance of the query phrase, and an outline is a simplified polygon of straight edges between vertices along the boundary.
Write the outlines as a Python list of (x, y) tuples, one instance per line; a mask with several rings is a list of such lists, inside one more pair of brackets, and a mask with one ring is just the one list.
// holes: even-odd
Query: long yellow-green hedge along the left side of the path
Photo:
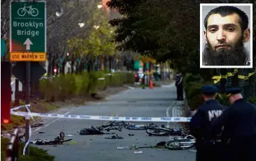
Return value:
[[(104, 79), (102, 79), (104, 78)], [(52, 79), (41, 79), (41, 99), (51, 102), (66, 100), (75, 95), (85, 96), (97, 93), (109, 86), (134, 84), (134, 74), (131, 72), (116, 72), (109, 74), (106, 71), (83, 72), (80, 75), (59, 75)]]

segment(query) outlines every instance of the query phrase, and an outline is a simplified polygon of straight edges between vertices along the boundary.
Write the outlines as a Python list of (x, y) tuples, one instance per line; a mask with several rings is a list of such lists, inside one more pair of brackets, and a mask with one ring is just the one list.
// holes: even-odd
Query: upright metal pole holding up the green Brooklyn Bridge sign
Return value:
[[(25, 89), (25, 103), (26, 105), (29, 105), (30, 104), (30, 62), (26, 62), (26, 89)], [(29, 106), (30, 108), (30, 106)], [(27, 141), (29, 141), (29, 119), (30, 117), (29, 116), (26, 116), (26, 121), (25, 121), (25, 124), (26, 124), (26, 131), (25, 131), (25, 140), (26, 140), (26, 143)], [(26, 154), (29, 155), (29, 144), (26, 148)]]

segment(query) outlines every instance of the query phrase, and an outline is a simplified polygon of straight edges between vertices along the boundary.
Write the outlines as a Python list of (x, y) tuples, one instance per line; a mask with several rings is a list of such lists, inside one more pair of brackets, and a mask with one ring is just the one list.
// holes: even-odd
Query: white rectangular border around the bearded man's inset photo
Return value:
[[(250, 6), (250, 66), (203, 66), (203, 6)], [(253, 68), (253, 3), (200, 3), (200, 68)]]

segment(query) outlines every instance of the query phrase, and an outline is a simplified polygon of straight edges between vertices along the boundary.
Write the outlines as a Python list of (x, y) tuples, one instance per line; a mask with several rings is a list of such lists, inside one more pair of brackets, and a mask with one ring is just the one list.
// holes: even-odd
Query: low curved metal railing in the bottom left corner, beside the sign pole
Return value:
[(18, 146), (18, 129), (16, 128), (6, 148), (6, 161), (17, 161)]

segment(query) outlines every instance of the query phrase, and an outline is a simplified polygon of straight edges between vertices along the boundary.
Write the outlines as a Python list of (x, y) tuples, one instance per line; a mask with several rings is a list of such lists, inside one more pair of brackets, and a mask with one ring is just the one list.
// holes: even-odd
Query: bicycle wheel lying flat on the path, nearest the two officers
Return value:
[(185, 150), (190, 149), (195, 146), (195, 141), (187, 140), (187, 139), (177, 139), (167, 141), (165, 147), (169, 150)]

